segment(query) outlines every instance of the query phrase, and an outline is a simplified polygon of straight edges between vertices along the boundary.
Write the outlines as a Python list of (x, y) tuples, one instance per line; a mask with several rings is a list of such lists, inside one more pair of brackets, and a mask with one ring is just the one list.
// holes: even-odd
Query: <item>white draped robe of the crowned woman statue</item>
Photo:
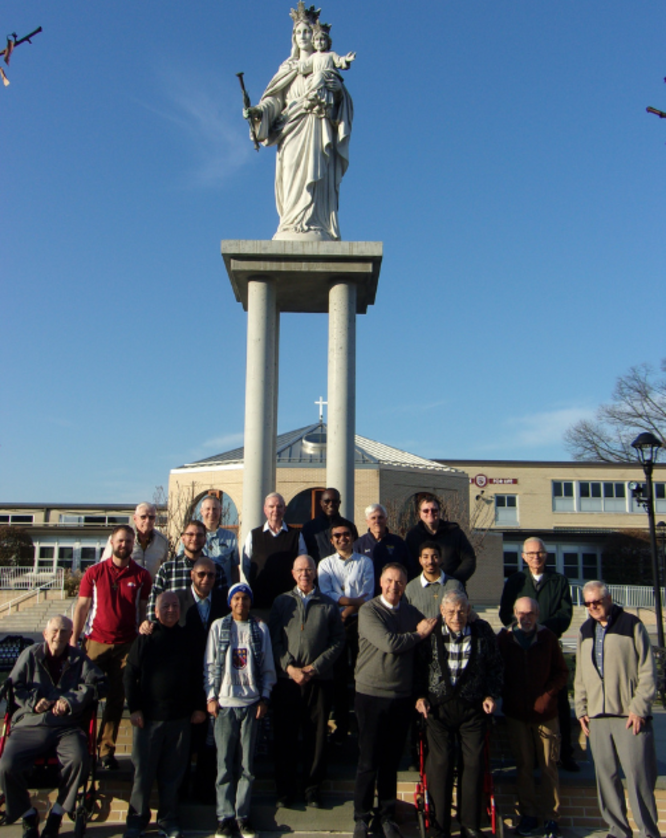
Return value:
[[(280, 226), (275, 237), (314, 233), (339, 240), (338, 196), (349, 165), (354, 108), (345, 86), (328, 114), (312, 106), (313, 76), (297, 72), (298, 62), (282, 64), (266, 88), (255, 123), (257, 139), (277, 145), (275, 200)], [(287, 237), (287, 236), (285, 236)]]

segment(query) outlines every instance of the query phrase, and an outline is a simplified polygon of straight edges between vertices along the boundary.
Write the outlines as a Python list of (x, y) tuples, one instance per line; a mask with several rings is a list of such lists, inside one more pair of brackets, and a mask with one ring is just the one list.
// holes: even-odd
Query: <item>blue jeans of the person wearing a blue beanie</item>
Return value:
[(257, 705), (220, 707), (215, 720), (217, 819), (247, 818), (254, 783), (254, 750), (259, 732)]

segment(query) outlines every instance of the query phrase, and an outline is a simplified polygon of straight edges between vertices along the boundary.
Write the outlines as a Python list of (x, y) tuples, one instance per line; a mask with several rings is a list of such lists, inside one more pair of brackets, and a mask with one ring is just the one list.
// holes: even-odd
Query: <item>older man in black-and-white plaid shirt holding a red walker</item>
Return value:
[(451, 834), (457, 735), (463, 762), (458, 790), (461, 835), (481, 838), (486, 718), (502, 693), (503, 663), (490, 625), (478, 618), (468, 622), (470, 605), (462, 591), (447, 591), (441, 612), (435, 630), (416, 653), (416, 709), (427, 723), (428, 793), (436, 818), (430, 835)]

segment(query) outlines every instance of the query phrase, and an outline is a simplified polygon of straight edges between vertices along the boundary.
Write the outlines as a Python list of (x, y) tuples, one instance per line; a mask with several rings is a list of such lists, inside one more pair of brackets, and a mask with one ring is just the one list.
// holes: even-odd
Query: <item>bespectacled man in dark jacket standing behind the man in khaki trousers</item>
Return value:
[[(571, 625), (573, 616), (569, 580), (562, 573), (546, 570), (548, 551), (540, 538), (525, 540), (522, 557), (527, 569), (512, 573), (504, 583), (500, 620), (505, 626), (511, 625), (516, 600), (530, 597), (539, 605), (539, 623), (550, 629), (559, 640)], [(562, 737), (558, 764), (565, 771), (580, 771), (571, 745), (571, 709), (566, 686), (557, 697), (557, 713)]]

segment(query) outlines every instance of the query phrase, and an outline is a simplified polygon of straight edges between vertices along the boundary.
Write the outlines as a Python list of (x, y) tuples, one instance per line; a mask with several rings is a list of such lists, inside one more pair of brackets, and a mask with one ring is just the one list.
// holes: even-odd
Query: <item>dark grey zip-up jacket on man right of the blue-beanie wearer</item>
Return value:
[(342, 654), (345, 630), (337, 602), (315, 589), (304, 602), (296, 590), (280, 594), (268, 618), (278, 678), (287, 667), (312, 665), (315, 678), (333, 680), (333, 664)]

